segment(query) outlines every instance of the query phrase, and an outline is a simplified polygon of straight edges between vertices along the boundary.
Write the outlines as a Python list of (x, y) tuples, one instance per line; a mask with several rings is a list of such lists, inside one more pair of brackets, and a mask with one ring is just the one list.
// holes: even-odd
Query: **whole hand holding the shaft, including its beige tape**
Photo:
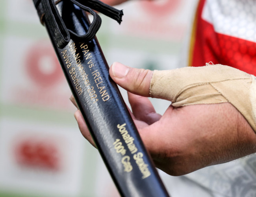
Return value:
[[(166, 173), (184, 175), (256, 152), (254, 76), (223, 65), (153, 72), (120, 63), (109, 74), (128, 91), (139, 134)], [(163, 116), (150, 96), (172, 101)], [(79, 110), (75, 118), (93, 144)]]

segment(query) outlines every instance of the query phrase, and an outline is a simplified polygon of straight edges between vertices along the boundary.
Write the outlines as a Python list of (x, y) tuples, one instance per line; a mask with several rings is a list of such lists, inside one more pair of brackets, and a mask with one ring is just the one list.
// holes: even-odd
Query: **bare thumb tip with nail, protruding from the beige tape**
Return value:
[(128, 92), (138, 94), (140, 96), (149, 97), (150, 81), (152, 79), (153, 71), (130, 68), (121, 63), (113, 63), (109, 69), (110, 77), (126, 89)]

